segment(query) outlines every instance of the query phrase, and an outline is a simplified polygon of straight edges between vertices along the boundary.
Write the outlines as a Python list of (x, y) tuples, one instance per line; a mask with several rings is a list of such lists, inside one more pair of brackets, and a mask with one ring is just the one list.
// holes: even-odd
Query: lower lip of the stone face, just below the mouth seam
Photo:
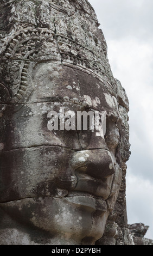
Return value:
[(107, 204), (102, 198), (95, 198), (90, 193), (84, 192), (69, 192), (65, 200), (69, 203), (78, 204), (79, 207), (84, 207), (88, 211), (107, 211)]

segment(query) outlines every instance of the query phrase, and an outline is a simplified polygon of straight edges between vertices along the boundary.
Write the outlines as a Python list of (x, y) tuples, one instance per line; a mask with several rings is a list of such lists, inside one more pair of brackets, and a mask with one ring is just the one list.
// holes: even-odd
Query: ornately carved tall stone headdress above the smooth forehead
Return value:
[[(4, 28), (10, 28), (10, 32), (1, 34), (0, 78), (3, 77), (3, 86), (10, 91), (12, 102), (20, 101), (23, 95), (27, 99), (31, 92), (27, 74), (34, 62), (44, 60), (75, 65), (75, 68), (104, 81), (111, 93), (116, 93), (116, 82), (107, 62), (104, 35), (87, 1), (22, 0), (20, 5), (15, 1), (9, 3), (15, 11), (12, 10), (10, 22)], [(90, 16), (92, 21), (88, 20)]]

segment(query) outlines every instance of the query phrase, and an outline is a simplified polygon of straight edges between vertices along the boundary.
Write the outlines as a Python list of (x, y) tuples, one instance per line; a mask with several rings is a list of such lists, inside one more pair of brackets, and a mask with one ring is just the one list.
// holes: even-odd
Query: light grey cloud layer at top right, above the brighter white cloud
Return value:
[[(107, 39), (152, 39), (152, 0), (90, 0)], [(106, 33), (105, 33), (106, 32)]]

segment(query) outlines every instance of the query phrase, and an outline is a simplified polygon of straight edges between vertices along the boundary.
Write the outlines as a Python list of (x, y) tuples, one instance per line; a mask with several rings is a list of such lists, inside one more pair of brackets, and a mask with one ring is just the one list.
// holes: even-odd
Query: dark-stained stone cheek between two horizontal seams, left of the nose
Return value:
[(4, 152), (1, 155), (1, 202), (66, 196), (67, 190), (76, 185), (74, 171), (69, 168), (72, 152), (52, 146)]

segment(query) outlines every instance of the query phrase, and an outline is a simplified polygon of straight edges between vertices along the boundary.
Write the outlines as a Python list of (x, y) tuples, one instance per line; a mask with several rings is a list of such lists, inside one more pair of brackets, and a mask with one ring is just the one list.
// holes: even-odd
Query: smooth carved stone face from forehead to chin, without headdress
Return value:
[[(103, 235), (122, 178), (115, 157), (117, 100), (106, 83), (58, 63), (36, 64), (31, 81), (27, 103), (16, 105), (9, 119), (12, 140), (4, 147), (11, 151), (2, 157), (1, 202), (12, 201), (6, 204), (11, 216), (16, 213), (17, 220), (54, 239), (62, 235), (63, 241), (94, 244)], [(105, 138), (90, 130), (48, 130), (48, 112), (60, 107), (75, 113), (105, 110)]]

